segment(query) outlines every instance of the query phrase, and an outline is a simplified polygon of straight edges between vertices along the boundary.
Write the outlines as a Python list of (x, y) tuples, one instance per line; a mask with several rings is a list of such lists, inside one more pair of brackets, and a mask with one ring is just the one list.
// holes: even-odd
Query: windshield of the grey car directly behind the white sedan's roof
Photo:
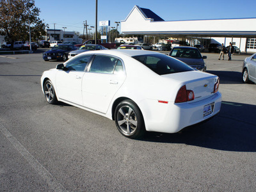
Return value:
[(170, 56), (174, 58), (202, 58), (201, 54), (198, 52), (198, 49), (189, 48), (175, 48), (172, 50)]

